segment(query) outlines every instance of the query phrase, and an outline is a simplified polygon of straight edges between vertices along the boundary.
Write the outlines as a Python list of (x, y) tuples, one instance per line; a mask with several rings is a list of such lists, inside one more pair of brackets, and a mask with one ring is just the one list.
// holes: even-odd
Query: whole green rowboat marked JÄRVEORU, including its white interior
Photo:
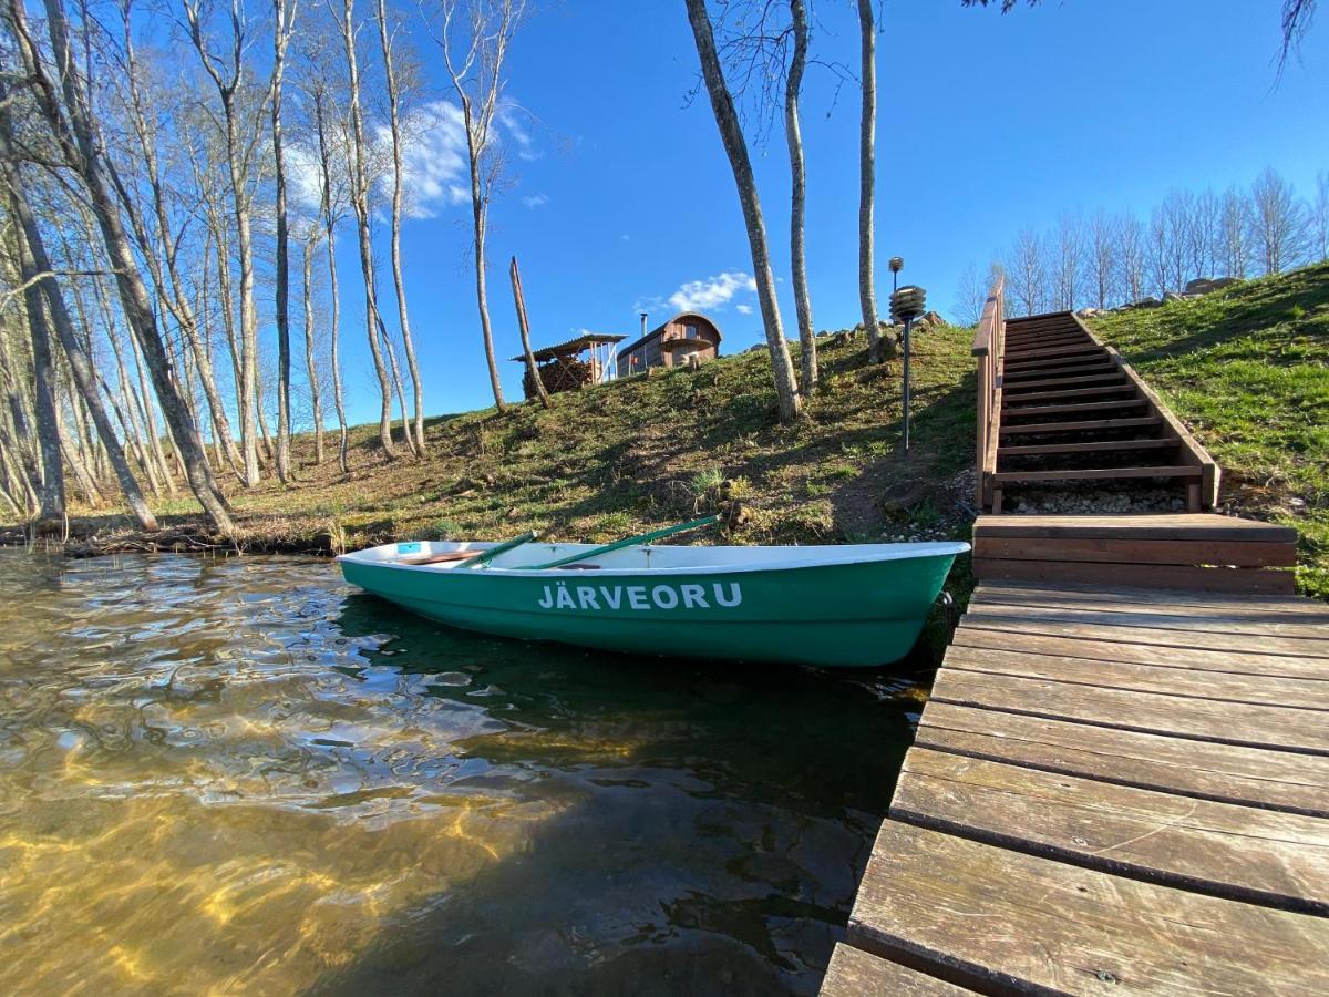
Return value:
[[(486, 634), (687, 658), (877, 666), (902, 658), (968, 544), (387, 544), (348, 582)], [(578, 554), (597, 553), (591, 558)], [(570, 561), (562, 568), (549, 566)]]

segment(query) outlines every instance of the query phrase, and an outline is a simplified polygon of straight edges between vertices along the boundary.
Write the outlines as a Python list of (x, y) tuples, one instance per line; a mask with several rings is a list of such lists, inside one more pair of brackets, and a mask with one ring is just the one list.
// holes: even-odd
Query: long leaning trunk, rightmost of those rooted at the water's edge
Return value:
[[(213, 471), (203, 452), (198, 428), (189, 415), (170, 374), (166, 348), (153, 314), (152, 299), (138, 273), (129, 237), (121, 225), (117, 205), (108, 189), (108, 173), (113, 166), (105, 161), (94, 138), (90, 117), (92, 101), (69, 44), (69, 24), (61, 0), (44, 0), (47, 31), (58, 66), (60, 90), (47, 73), (41, 53), (28, 31), (27, 13), (21, 0), (5, 0), (8, 20), (24, 61), (27, 82), (32, 86), (37, 106), (65, 161), (78, 174), (101, 229), (102, 242), (116, 284), (120, 290), (125, 319), (148, 355), (153, 386), (171, 435), (181, 448), (186, 476), (203, 514), (223, 534), (234, 534), (230, 510), (213, 480)], [(57, 93), (60, 96), (57, 96)]]

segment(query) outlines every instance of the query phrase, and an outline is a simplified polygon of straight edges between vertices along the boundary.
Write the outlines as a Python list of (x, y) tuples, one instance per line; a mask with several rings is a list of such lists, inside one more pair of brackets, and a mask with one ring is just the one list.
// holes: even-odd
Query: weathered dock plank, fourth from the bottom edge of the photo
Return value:
[(924, 709), (914, 744), (1181, 796), (1329, 816), (1329, 756), (1215, 744), (937, 701)]

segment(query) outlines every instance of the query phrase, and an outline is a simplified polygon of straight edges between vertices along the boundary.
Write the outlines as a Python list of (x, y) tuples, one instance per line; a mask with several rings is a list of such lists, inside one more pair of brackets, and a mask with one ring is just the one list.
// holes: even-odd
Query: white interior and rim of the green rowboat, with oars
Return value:
[[(497, 544), (484, 541), (409, 541), (384, 544), (342, 554), (339, 561), (381, 565), (416, 572), (478, 570), (512, 574), (542, 573), (540, 565), (573, 554), (595, 550), (598, 544), (549, 544), (533, 540), (506, 550), (489, 564), (466, 568), (468, 553), (481, 553)], [(928, 544), (827, 544), (817, 546), (629, 546), (597, 554), (567, 565), (563, 570), (598, 570), (606, 574), (639, 574), (649, 572), (711, 573), (771, 572), (820, 565), (896, 561), (917, 557), (962, 554), (969, 544), (938, 541)], [(558, 570), (558, 569), (556, 569)]]

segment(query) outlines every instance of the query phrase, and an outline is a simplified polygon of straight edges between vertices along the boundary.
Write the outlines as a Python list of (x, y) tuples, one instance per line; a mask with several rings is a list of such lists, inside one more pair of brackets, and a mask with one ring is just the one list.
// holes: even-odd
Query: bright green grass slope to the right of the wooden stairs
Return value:
[(1297, 585), (1329, 598), (1329, 263), (1090, 324), (1219, 461), (1225, 506), (1300, 530)]

